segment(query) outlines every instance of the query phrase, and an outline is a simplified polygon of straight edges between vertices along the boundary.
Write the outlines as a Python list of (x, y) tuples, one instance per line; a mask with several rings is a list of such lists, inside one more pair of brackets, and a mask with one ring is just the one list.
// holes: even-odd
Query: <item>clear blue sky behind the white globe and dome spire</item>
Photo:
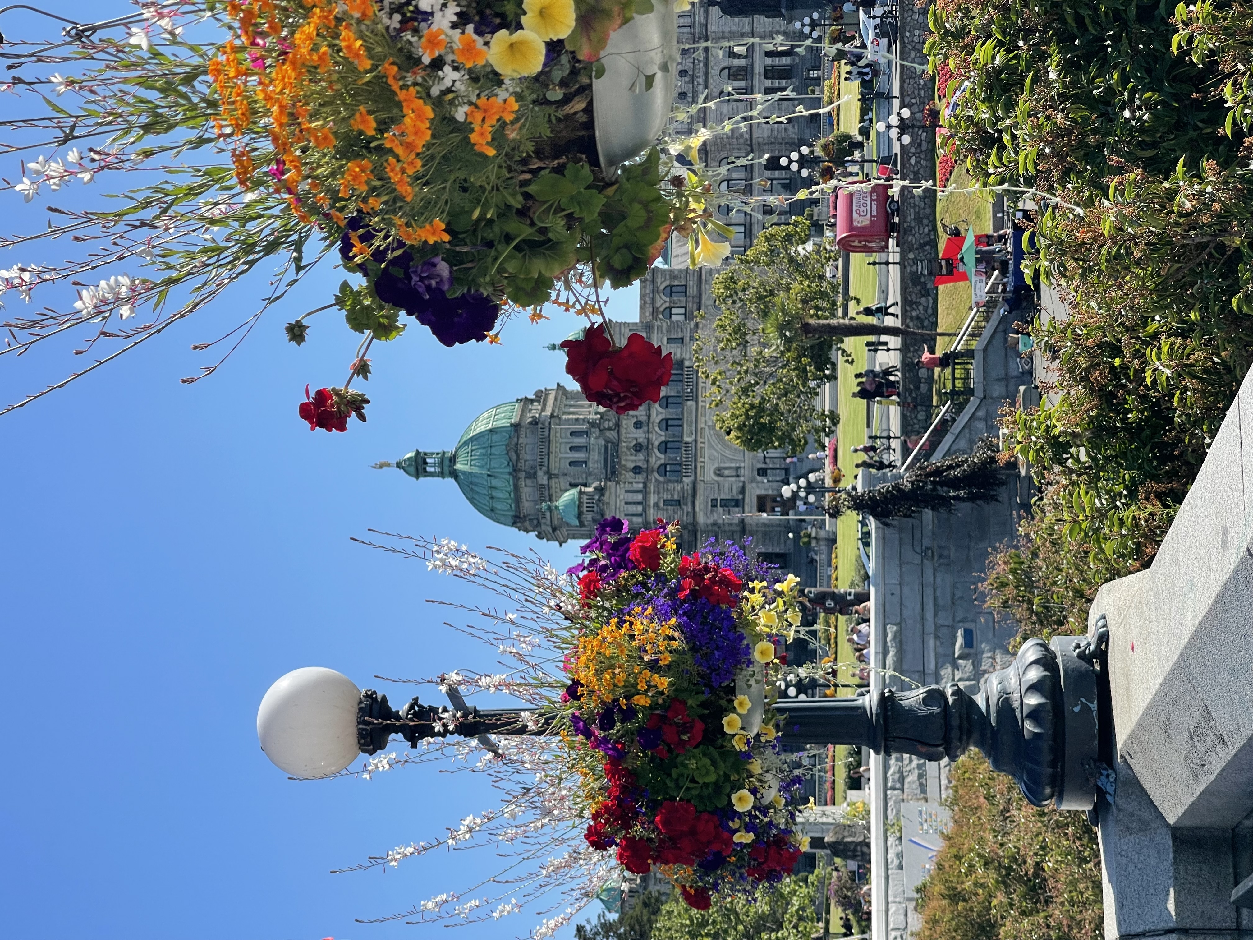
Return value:
[[(73, 4), (51, 9), (75, 15)], [(5, 20), (6, 33), (14, 26)], [(15, 107), (0, 100), (0, 113)], [(13, 179), (16, 165), (0, 172)], [(0, 193), (0, 204), (5, 229), (19, 231), (41, 224), (46, 201), (24, 207)], [(70, 251), (10, 251), (0, 267)], [(289, 782), (258, 748), (256, 709), (301, 666), (338, 669), (400, 701), (402, 689), (371, 677), (489, 668), (492, 650), (444, 628), (422, 603), (467, 598), (466, 587), (350, 538), (376, 528), (573, 560), (573, 546), (479, 516), (452, 481), (417, 484), (370, 465), (451, 447), (481, 411), (564, 379), (560, 355), (541, 347), (578, 323), (554, 312), (539, 326), (510, 325), (502, 346), (456, 350), (413, 326), (372, 351), (368, 424), (311, 432), (296, 414), (304, 384), (342, 384), (357, 337), (327, 312), (297, 348), (282, 325), (326, 303), (341, 278), (315, 272), (197, 385), (178, 382), (208, 361), (189, 346), (234, 326), (259, 281), (0, 419), (0, 733), (10, 755), (0, 777), (0, 935), (447, 936), (353, 919), (461, 889), (494, 861), (441, 851), (386, 874), (330, 875), (442, 835), (494, 800), (465, 777), (426, 770)], [(20, 307), (4, 300), (6, 312)], [(637, 308), (637, 292), (623, 291), (610, 313), (633, 320)], [(0, 399), (60, 379), (70, 348), (0, 360)], [(515, 916), (469, 930), (511, 937), (529, 926)]]

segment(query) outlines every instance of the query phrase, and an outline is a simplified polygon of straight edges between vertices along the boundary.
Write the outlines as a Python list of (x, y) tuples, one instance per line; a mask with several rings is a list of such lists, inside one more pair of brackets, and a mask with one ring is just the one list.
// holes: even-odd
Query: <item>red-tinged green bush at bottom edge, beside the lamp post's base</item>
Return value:
[(971, 752), (952, 766), (952, 825), (918, 887), (918, 940), (1099, 940), (1100, 850), (1083, 813), (1037, 808)]

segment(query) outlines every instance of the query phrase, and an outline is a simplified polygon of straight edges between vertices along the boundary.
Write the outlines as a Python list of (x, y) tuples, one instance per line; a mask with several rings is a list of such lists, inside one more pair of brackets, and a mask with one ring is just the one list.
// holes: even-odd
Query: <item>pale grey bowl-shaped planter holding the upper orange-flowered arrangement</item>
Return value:
[(673, 0), (655, 0), (653, 13), (635, 16), (609, 36), (600, 56), (605, 71), (591, 83), (596, 152), (606, 177), (644, 153), (665, 129), (674, 102), (678, 39)]

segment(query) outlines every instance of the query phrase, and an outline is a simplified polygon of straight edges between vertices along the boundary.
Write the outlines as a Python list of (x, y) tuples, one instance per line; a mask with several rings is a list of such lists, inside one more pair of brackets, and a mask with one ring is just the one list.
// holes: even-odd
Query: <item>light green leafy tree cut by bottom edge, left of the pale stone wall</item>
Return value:
[(707, 911), (689, 907), (675, 894), (653, 926), (652, 940), (809, 940), (821, 932), (814, 900), (827, 872), (783, 879), (753, 896), (722, 896)]

